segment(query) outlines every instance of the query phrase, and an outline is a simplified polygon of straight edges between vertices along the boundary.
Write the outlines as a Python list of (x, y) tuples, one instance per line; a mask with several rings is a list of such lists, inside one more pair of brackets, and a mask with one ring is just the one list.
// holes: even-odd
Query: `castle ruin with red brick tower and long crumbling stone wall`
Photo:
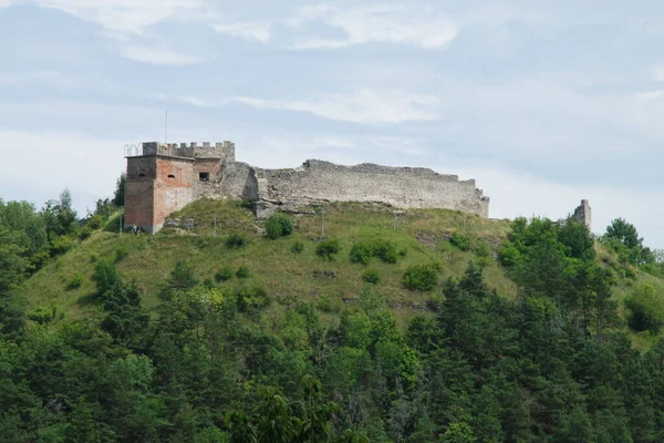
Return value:
[(246, 199), (269, 216), (321, 202), (382, 203), (398, 208), (445, 208), (489, 215), (475, 181), (419, 167), (342, 166), (309, 159), (294, 169), (236, 162), (231, 142), (143, 143), (126, 153), (125, 224), (156, 233), (170, 213), (199, 198)]

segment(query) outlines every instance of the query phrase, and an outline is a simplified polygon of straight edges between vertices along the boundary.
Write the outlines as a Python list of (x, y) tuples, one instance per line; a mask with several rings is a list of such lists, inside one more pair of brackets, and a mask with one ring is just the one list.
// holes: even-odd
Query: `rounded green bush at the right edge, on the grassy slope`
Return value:
[(635, 331), (658, 333), (664, 326), (664, 295), (657, 293), (651, 285), (639, 287), (625, 299), (629, 311), (627, 322)]

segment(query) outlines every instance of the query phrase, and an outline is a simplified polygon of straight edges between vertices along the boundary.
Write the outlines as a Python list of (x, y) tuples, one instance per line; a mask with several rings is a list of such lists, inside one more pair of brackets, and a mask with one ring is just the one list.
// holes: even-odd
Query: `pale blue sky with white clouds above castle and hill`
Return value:
[(587, 198), (664, 248), (663, 48), (661, 0), (0, 0), (0, 197), (84, 215), (125, 145), (228, 140), (476, 178), (492, 218)]

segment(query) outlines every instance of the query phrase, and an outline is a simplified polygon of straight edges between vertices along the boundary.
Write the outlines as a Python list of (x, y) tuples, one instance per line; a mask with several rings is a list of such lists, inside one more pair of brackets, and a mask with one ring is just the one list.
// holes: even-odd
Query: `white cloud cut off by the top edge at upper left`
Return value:
[[(2, 1), (2, 0), (0, 0)], [(203, 8), (199, 0), (33, 0), (40, 8), (56, 9), (102, 24), (108, 31), (141, 34), (163, 20)]]

